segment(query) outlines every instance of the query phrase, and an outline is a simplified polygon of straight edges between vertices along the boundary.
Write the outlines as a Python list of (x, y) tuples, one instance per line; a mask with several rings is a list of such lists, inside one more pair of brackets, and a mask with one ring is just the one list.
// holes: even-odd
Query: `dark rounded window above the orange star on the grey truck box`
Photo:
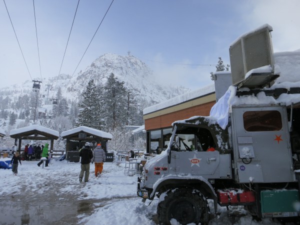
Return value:
[(275, 131), (282, 128), (281, 114), (276, 110), (246, 111), (243, 113), (246, 131)]

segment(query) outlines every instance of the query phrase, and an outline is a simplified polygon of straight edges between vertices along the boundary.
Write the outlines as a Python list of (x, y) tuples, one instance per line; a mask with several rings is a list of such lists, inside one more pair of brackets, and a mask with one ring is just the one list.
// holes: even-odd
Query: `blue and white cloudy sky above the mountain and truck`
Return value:
[[(57, 76), (78, 0), (5, 0), (32, 79)], [(111, 0), (81, 0), (61, 72), (72, 75)], [(299, 0), (114, 0), (74, 74), (98, 56), (127, 52), (154, 70), (156, 80), (196, 89), (212, 83), (218, 57), (264, 23), (273, 50), (300, 48)], [(41, 72), (40, 72), (41, 71)], [(30, 80), (4, 1), (0, 1), (0, 87)], [(180, 79), (181, 77), (181, 79)]]

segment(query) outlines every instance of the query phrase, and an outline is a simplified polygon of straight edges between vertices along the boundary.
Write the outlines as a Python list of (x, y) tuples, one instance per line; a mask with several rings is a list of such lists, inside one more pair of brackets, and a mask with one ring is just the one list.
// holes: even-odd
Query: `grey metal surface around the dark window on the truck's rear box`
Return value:
[[(282, 129), (278, 131), (248, 132), (243, 127), (243, 112), (256, 110), (278, 110), (281, 114)], [(293, 181), (291, 171), (291, 152), (289, 148), (289, 135), (286, 119), (286, 111), (281, 106), (269, 107), (232, 107), (234, 145), (234, 161), (238, 171), (238, 182), (249, 182), (249, 176), (253, 182), (290, 182)], [(282, 141), (275, 140), (276, 135), (281, 135)], [(249, 164), (238, 160), (237, 137), (252, 136), (255, 158)], [(241, 167), (242, 165), (242, 167)], [(242, 169), (243, 170), (242, 170)], [(261, 168), (261, 169), (260, 169)], [(256, 177), (256, 178), (255, 178)]]

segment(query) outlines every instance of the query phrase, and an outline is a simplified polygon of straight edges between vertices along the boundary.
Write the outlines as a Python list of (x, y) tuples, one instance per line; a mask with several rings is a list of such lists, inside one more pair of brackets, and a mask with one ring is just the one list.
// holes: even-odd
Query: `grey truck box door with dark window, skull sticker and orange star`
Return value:
[(293, 181), (286, 111), (281, 106), (232, 107), (238, 182)]

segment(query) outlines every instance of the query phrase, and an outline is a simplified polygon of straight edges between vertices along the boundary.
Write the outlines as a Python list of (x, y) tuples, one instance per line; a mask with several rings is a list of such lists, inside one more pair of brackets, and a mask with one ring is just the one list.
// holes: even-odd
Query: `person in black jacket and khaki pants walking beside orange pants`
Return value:
[(87, 182), (89, 176), (89, 163), (92, 159), (92, 151), (90, 149), (89, 142), (86, 142), (84, 147), (80, 150), (79, 157), (81, 157), (81, 171), (79, 173), (79, 182), (82, 182), (84, 172), (84, 182)]

